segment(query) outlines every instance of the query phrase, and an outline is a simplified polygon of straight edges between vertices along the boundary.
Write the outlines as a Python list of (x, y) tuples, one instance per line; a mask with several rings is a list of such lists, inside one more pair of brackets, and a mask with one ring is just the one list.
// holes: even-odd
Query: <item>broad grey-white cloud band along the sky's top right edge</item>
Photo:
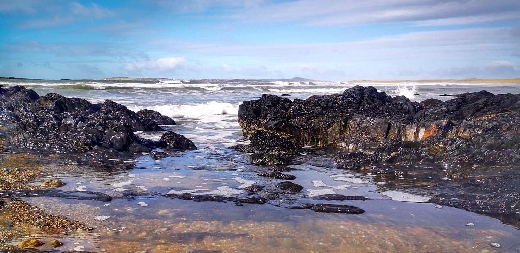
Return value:
[(424, 21), (453, 25), (518, 20), (519, 12), (517, 0), (299, 0), (245, 8), (231, 17), (252, 22), (301, 20), (303, 24), (316, 26)]

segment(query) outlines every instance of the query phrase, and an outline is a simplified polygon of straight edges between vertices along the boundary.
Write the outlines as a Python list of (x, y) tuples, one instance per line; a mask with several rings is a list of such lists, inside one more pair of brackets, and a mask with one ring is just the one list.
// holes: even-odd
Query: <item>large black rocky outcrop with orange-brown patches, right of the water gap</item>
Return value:
[(258, 131), (300, 146), (335, 145), (344, 148), (340, 168), (409, 176), (418, 189), (432, 186), (425, 192), (435, 193), (433, 203), (520, 224), (520, 95), (417, 103), (356, 86), (306, 100), (263, 95), (240, 105), (238, 121), (251, 139), (245, 150), (263, 149), (253, 141)]

